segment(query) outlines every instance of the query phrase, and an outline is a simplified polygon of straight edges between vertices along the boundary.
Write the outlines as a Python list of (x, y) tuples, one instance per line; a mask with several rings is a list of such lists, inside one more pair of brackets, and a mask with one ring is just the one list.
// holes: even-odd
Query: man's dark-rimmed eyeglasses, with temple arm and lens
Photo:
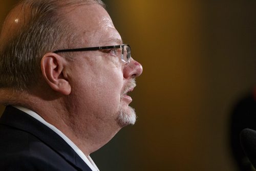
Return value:
[[(115, 55), (121, 57), (121, 60), (125, 63), (129, 63), (131, 60), (131, 47), (128, 44), (115, 45), (115, 46), (101, 46), (101, 47), (91, 47), (91, 48), (78, 48), (78, 49), (62, 49), (54, 51), (53, 53), (60, 52), (79, 52), (79, 51), (96, 51), (104, 49), (114, 49)], [(118, 49), (122, 49), (121, 51)]]

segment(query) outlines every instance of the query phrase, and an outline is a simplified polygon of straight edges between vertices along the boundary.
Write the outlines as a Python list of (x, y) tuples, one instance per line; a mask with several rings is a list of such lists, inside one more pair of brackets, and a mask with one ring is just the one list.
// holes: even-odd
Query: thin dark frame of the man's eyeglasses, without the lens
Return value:
[[(130, 49), (130, 52), (127, 51), (127, 61), (123, 59), (124, 55), (124, 46), (128, 46)], [(114, 46), (100, 46), (100, 47), (89, 47), (89, 48), (76, 48), (76, 49), (61, 49), (61, 50), (56, 50), (53, 51), (53, 53), (60, 53), (60, 52), (81, 52), (81, 51), (96, 51), (96, 50), (104, 50), (104, 49), (120, 49), (122, 48), (122, 55), (121, 55), (121, 60), (125, 63), (130, 63), (131, 61), (131, 47), (128, 44), (122, 44), (122, 45), (114, 45)]]

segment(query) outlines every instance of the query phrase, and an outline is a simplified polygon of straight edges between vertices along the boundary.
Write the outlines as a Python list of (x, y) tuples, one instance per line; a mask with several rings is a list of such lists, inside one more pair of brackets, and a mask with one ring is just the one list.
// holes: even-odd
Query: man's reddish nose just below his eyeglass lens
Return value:
[(142, 66), (139, 62), (131, 58), (130, 63), (127, 63), (123, 69), (123, 77), (126, 79), (136, 78), (142, 73)]

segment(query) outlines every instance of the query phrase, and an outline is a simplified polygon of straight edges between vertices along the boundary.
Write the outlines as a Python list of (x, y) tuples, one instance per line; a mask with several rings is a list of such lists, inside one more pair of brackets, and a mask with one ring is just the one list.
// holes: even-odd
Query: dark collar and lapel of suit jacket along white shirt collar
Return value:
[(77, 169), (91, 171), (91, 168), (75, 153), (66, 141), (49, 127), (23, 111), (7, 106), (0, 119), (0, 123), (34, 135)]

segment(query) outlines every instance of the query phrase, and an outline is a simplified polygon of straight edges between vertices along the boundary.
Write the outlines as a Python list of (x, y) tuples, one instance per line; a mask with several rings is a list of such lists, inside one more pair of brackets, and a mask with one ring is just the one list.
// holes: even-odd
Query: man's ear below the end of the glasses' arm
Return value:
[(41, 71), (46, 82), (56, 92), (71, 93), (71, 85), (65, 73), (67, 61), (56, 53), (47, 53), (41, 59)]

